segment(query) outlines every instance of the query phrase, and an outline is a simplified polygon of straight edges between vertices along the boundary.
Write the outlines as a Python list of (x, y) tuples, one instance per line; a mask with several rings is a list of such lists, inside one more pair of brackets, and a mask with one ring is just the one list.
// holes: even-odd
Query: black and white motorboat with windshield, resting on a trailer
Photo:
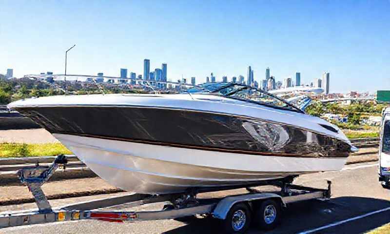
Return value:
[(8, 108), (37, 122), (108, 183), (141, 194), (338, 171), (356, 150), (337, 126), (235, 83), (178, 94), (31, 98)]

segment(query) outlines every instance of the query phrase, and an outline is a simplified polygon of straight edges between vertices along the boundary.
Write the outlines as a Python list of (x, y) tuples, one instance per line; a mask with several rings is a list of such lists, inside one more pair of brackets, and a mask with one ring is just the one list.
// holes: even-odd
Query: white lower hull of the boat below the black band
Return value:
[(93, 172), (129, 192), (167, 194), (338, 171), (347, 158), (259, 156), (53, 134)]

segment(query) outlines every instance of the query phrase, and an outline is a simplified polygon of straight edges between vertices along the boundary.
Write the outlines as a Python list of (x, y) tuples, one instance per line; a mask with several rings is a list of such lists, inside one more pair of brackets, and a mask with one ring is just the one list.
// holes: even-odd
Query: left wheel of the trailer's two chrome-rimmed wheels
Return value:
[(234, 204), (222, 222), (227, 233), (245, 233), (251, 223), (251, 211), (248, 205)]

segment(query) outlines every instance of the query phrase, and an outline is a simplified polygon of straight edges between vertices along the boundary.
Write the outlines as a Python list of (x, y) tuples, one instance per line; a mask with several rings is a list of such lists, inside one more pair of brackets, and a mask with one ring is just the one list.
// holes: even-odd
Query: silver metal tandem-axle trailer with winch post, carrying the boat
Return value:
[[(294, 176), (290, 176), (283, 179), (259, 181), (245, 186), (193, 188), (185, 193), (178, 194), (122, 195), (54, 209), (40, 187), (50, 179), (60, 165), (65, 168), (66, 163), (66, 156), (59, 155), (50, 166), (39, 166), (37, 163), (35, 167), (19, 170), (17, 175), (33, 194), (38, 210), (2, 213), (0, 214), (0, 228), (82, 219), (122, 223), (125, 221), (208, 215), (220, 219), (228, 233), (243, 233), (249, 228), (251, 221), (261, 229), (273, 229), (279, 223), (280, 213), (283, 208), (287, 207), (288, 203), (310, 199), (328, 200), (331, 197), (331, 181), (328, 181), (328, 189), (316, 189), (293, 185), (291, 183)], [(277, 186), (281, 190), (278, 192), (261, 192), (254, 188), (262, 185)], [(222, 198), (196, 198), (199, 193), (237, 188), (246, 188), (248, 193), (229, 195)], [(126, 204), (126, 207), (137, 207), (157, 202), (166, 203), (162, 210), (141, 212), (97, 210), (123, 204)]]

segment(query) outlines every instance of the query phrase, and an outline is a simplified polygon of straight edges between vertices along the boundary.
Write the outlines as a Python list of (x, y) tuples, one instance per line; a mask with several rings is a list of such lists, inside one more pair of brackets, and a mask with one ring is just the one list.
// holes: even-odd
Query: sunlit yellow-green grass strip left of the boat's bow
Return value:
[(72, 152), (66, 149), (61, 143), (0, 143), (0, 158), (55, 156), (59, 154), (72, 154)]

